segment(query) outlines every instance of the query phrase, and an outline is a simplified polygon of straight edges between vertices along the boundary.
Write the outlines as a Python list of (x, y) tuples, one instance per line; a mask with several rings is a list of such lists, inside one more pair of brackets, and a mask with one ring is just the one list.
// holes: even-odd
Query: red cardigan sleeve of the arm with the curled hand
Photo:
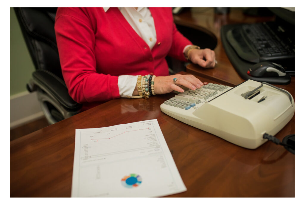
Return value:
[(183, 54), (183, 49), (187, 45), (192, 45), (192, 42), (183, 36), (173, 22), (173, 41), (168, 55), (181, 61), (187, 61)]

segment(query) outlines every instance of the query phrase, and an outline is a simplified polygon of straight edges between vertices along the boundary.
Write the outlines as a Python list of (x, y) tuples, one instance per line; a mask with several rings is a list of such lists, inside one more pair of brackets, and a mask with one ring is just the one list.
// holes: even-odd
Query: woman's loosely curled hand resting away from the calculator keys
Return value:
[(189, 53), (189, 58), (194, 64), (198, 64), (205, 68), (213, 68), (216, 65), (215, 52), (208, 48), (194, 49)]

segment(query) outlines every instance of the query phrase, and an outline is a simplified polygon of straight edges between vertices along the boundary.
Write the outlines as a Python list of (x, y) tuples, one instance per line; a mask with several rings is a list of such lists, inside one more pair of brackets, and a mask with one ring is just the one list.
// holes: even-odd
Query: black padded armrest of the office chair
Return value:
[(70, 97), (66, 84), (58, 76), (44, 69), (36, 70), (32, 76), (34, 84), (57, 100), (66, 110), (81, 109), (82, 105)]

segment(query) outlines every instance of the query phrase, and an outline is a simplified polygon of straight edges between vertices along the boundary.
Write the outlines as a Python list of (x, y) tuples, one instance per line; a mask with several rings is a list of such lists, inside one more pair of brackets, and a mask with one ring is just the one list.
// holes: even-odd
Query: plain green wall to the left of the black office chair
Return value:
[(27, 91), (26, 84), (34, 72), (34, 64), (19, 27), (16, 13), (10, 8), (10, 95)]

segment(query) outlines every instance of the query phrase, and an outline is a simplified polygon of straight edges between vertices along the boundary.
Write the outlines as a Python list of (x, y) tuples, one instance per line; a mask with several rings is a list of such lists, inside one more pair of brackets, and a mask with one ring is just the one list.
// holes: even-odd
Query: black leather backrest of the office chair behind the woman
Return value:
[(54, 30), (57, 8), (14, 8), (35, 69), (63, 79)]

